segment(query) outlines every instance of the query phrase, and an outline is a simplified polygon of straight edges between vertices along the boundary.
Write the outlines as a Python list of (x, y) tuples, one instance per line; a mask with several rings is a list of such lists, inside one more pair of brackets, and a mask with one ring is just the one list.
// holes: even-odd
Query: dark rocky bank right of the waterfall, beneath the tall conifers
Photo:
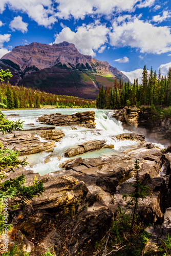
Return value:
[(125, 129), (145, 133), (151, 141), (171, 144), (171, 117), (154, 118), (151, 109), (137, 109), (136, 106), (125, 106), (121, 110), (111, 111), (111, 116), (122, 122)]

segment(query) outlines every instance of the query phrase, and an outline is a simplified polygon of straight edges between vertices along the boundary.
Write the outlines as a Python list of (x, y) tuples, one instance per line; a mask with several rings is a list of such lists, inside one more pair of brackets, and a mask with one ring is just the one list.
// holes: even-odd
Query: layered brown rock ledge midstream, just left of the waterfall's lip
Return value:
[(38, 121), (55, 126), (79, 125), (90, 129), (95, 128), (96, 124), (94, 111), (86, 111), (72, 115), (61, 115), (60, 113), (50, 115), (46, 114), (44, 116), (38, 117)]

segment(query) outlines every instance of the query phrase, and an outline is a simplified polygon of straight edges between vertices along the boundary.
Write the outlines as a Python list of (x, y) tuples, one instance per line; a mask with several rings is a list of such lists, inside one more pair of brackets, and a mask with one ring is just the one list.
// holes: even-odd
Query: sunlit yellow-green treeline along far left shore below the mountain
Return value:
[(9, 83), (0, 83), (0, 103), (7, 105), (8, 109), (40, 108), (40, 104), (56, 105), (57, 108), (96, 108), (95, 100), (54, 95)]

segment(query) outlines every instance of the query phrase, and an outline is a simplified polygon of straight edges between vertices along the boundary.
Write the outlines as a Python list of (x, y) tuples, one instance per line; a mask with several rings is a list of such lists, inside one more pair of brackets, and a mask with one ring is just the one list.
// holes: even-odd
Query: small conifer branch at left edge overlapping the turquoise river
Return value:
[(16, 122), (9, 121), (5, 118), (5, 115), (0, 111), (0, 132), (12, 133), (12, 131), (22, 130), (23, 129), (23, 122), (20, 122), (20, 119)]

